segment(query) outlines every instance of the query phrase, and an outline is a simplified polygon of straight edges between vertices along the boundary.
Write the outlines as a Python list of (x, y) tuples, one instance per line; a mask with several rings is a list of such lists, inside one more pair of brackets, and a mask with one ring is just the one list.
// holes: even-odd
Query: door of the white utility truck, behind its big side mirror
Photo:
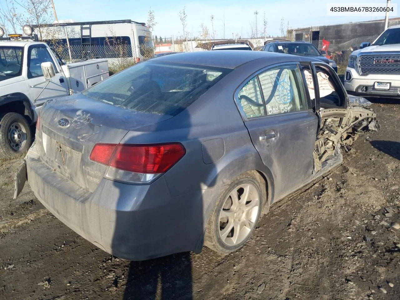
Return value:
[[(35, 106), (40, 106), (46, 100), (67, 96), (68, 84), (58, 63), (45, 45), (32, 45), (28, 48), (28, 68), (26, 83), (28, 84), (30, 96)], [(40, 64), (42, 62), (52, 62), (56, 76), (50, 82), (43, 76)]]

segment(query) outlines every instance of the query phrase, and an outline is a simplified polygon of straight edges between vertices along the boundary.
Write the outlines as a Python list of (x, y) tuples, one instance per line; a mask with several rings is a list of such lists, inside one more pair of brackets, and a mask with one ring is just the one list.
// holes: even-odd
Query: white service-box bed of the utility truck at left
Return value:
[(107, 59), (91, 59), (72, 62), (62, 66), (69, 86), (70, 94), (80, 93), (93, 84), (106, 79), (108, 74)]

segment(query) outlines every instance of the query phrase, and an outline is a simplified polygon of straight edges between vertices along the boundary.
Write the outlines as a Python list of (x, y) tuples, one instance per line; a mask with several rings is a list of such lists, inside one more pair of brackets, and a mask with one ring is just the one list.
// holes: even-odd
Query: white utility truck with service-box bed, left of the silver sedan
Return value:
[(66, 64), (46, 43), (10, 39), (0, 36), (0, 158), (29, 149), (31, 126), (44, 102), (82, 92), (109, 76), (106, 59)]

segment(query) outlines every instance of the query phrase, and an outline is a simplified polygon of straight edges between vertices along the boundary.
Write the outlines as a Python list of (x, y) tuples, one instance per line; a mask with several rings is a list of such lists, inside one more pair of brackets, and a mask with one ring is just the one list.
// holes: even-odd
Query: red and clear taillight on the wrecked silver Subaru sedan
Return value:
[(89, 158), (108, 166), (106, 178), (130, 183), (149, 183), (169, 170), (185, 153), (185, 148), (179, 143), (96, 144)]

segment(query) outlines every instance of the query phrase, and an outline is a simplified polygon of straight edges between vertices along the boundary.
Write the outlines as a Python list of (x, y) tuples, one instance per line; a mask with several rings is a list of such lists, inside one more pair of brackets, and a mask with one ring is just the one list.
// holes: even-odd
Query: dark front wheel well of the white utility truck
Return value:
[(34, 113), (29, 98), (22, 93), (0, 96), (0, 113), (16, 112), (24, 116), (28, 124), (32, 124)]

